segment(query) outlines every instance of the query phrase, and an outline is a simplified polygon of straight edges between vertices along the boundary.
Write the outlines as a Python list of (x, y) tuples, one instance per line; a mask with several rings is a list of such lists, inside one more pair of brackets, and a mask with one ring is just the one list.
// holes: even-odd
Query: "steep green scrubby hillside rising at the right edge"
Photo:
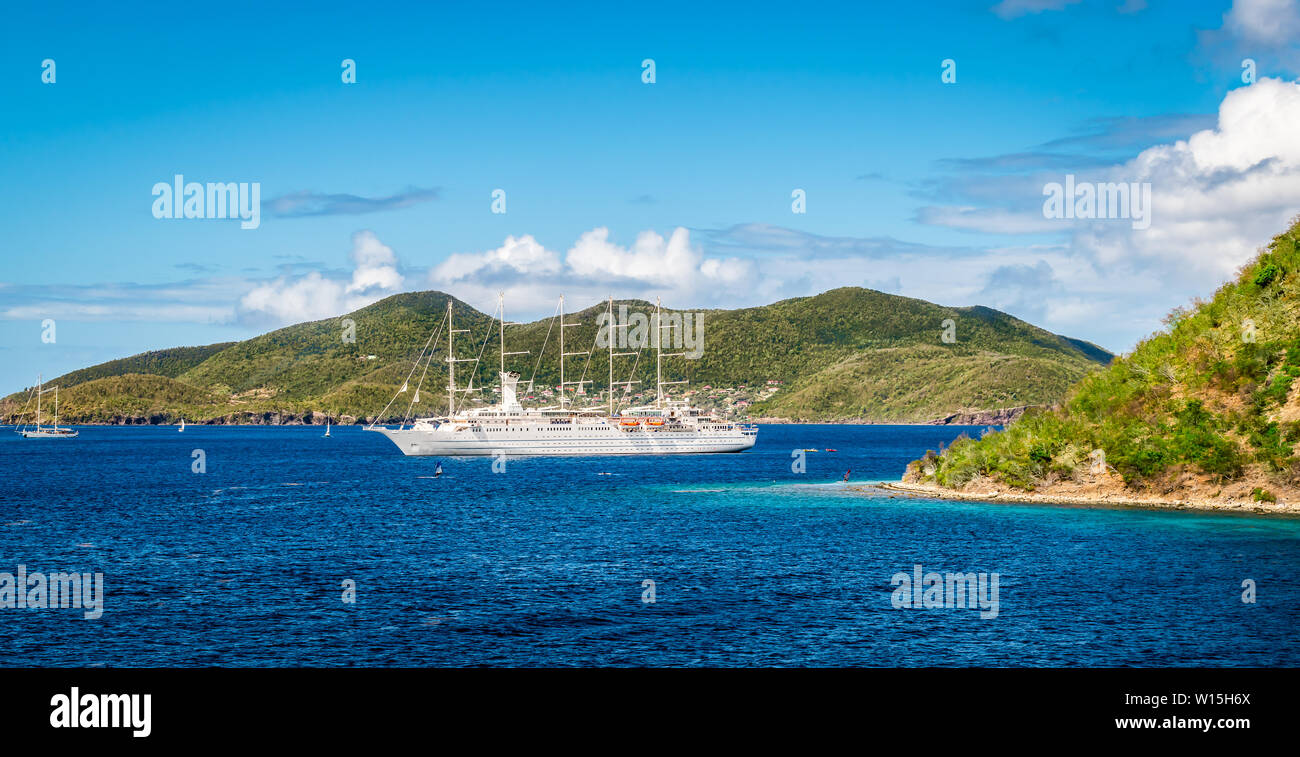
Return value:
[(1300, 222), (1213, 299), (1176, 310), (1167, 329), (1087, 376), (1060, 410), (927, 454), (907, 479), (1052, 490), (1115, 477), (1161, 494), (1300, 494), (1297, 235)]

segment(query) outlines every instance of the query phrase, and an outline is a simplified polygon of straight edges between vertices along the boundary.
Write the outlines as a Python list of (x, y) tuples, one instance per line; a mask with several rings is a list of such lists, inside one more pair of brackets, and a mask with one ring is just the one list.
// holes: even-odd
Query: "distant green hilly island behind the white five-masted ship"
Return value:
[[(456, 356), (482, 355), (477, 368), (458, 364), (458, 385), (465, 386), (472, 376), (474, 386), (489, 389), (471, 395), (472, 402), (491, 402), (497, 326), (491, 316), (438, 291), (393, 295), (343, 317), (286, 326), (243, 342), (113, 360), (52, 382), (70, 388), (64, 399), (69, 423), (122, 416), (138, 421), (178, 419), (181, 408), (159, 394), (157, 382), (138, 392), (122, 382), (104, 382), (139, 373), (166, 377), (209, 397), (207, 405), (198, 395), (185, 397), (185, 418), (194, 421), (237, 423), (256, 415), (312, 412), (373, 418), (438, 329), (448, 299), (456, 328), (468, 330), (456, 336)], [(629, 313), (653, 311), (650, 303), (640, 300), (615, 300), (616, 312), (620, 306)], [(580, 324), (566, 329), (567, 352), (593, 347), (597, 319), (604, 310), (599, 303), (567, 313), (566, 323)], [(948, 319), (956, 337), (952, 343), (942, 338)], [(344, 338), (348, 321), (355, 324), (351, 341)], [(534, 381), (536, 402), (543, 402), (541, 393), (559, 382), (558, 330), (552, 319), (542, 319), (507, 332), (507, 350), (529, 352), (510, 358), (507, 367), (519, 371), (525, 384)], [(486, 347), (485, 337), (490, 337)], [(946, 308), (855, 287), (763, 307), (703, 311), (703, 343), (699, 359), (664, 359), (666, 380), (690, 382), (673, 388), (676, 392), (710, 386), (716, 397), (702, 393), (693, 398), (736, 407), (753, 402), (750, 415), (806, 420), (927, 421), (957, 410), (1052, 403), (1071, 382), (1110, 359), (1095, 345), (994, 310)], [(446, 407), (445, 332), (437, 347), (441, 352), (429, 368), (415, 412)], [(594, 401), (604, 390), (607, 371), (604, 350), (598, 349), (590, 363), (582, 355), (568, 358), (566, 377), (594, 380), (586, 388)], [(615, 372), (619, 381), (640, 381), (637, 393), (653, 394), (653, 350), (645, 350), (640, 359), (618, 358)], [(75, 392), (79, 385), (86, 385), (84, 392)], [(114, 405), (114, 392), (121, 393), (120, 405)], [(403, 405), (395, 405), (387, 418), (404, 415), (411, 398), (413, 393), (402, 395)], [(744, 402), (737, 403), (737, 398)], [(0, 418), (12, 421), (25, 399), (22, 393), (5, 398)], [(638, 399), (632, 395), (627, 401)]]

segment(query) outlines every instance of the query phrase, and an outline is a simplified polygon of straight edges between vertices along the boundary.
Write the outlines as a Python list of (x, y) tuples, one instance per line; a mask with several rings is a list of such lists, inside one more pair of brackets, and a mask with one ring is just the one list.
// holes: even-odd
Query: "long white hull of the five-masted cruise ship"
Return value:
[(439, 457), (530, 457), (530, 455), (684, 455), (742, 453), (754, 446), (754, 432), (693, 433), (604, 429), (558, 433), (560, 438), (530, 438), (520, 434), (463, 432), (438, 429), (374, 429), (391, 441), (404, 455)]

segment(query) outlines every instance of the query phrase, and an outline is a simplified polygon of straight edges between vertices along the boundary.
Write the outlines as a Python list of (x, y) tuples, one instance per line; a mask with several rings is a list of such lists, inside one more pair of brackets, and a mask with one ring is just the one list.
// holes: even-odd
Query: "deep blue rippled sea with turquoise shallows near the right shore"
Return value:
[[(104, 607), (0, 609), (0, 666), (1300, 663), (1300, 520), (840, 483), (978, 431), (764, 425), (745, 454), (434, 477), (355, 427), (5, 429), (0, 572), (101, 572)], [(997, 615), (896, 609), (916, 564), (997, 574)]]

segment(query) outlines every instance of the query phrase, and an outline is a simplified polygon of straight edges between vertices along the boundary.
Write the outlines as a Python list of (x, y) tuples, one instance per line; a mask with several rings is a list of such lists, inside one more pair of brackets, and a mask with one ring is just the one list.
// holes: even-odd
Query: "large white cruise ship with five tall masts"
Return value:
[[(625, 328), (612, 324), (614, 302), (610, 300), (610, 328)], [(758, 427), (744, 425), (715, 418), (712, 414), (692, 407), (686, 402), (673, 401), (664, 394), (664, 386), (672, 384), (685, 384), (684, 381), (663, 381), (662, 339), (654, 339), (655, 345), (655, 373), (658, 388), (654, 405), (629, 407), (615, 412), (615, 386), (630, 388), (628, 381), (614, 380), (614, 358), (636, 355), (636, 352), (615, 352), (614, 339), (610, 339), (610, 382), (607, 388), (608, 402), (604, 406), (575, 407), (568, 398), (567, 388), (576, 385), (575, 394), (582, 397), (582, 389), (592, 381), (566, 381), (564, 358), (573, 355), (586, 355), (586, 352), (564, 351), (564, 329), (578, 324), (564, 323), (564, 298), (559, 306), (559, 354), (560, 354), (560, 399), (552, 407), (525, 408), (519, 402), (517, 384), (520, 375), (506, 371), (507, 355), (521, 355), (524, 352), (506, 351), (506, 325), (504, 307), (499, 306), (500, 313), (500, 402), (490, 407), (458, 408), (459, 394), (473, 389), (456, 388), (456, 363), (474, 362), (477, 359), (455, 358), (454, 334), (464, 333), (452, 328), (451, 303), (447, 303), (447, 317), (442, 325), (447, 328), (447, 415), (434, 418), (415, 418), (411, 424), (402, 423), (398, 428), (385, 428), (370, 425), (370, 431), (382, 433), (404, 455), (667, 455), (667, 454), (701, 454), (701, 453), (740, 453), (754, 446), (758, 438)], [(659, 306), (655, 307), (656, 332), (666, 328), (659, 319)], [(439, 326), (441, 332), (442, 326)], [(398, 397), (408, 390), (408, 384), (429, 352), (429, 345), (437, 342), (436, 336), (429, 337), (425, 351), (416, 359), (415, 367), (403, 382)], [(549, 337), (547, 337), (549, 341)], [(545, 345), (543, 345), (545, 351)], [(480, 352), (481, 354), (481, 352)], [(432, 352), (425, 360), (432, 362)], [(585, 376), (585, 372), (584, 372)], [(420, 385), (416, 385), (411, 407), (419, 402)], [(394, 397), (394, 401), (396, 397)], [(389, 403), (391, 406), (391, 402)], [(385, 407), (384, 412), (387, 412)], [(381, 414), (382, 416), (384, 414)]]

